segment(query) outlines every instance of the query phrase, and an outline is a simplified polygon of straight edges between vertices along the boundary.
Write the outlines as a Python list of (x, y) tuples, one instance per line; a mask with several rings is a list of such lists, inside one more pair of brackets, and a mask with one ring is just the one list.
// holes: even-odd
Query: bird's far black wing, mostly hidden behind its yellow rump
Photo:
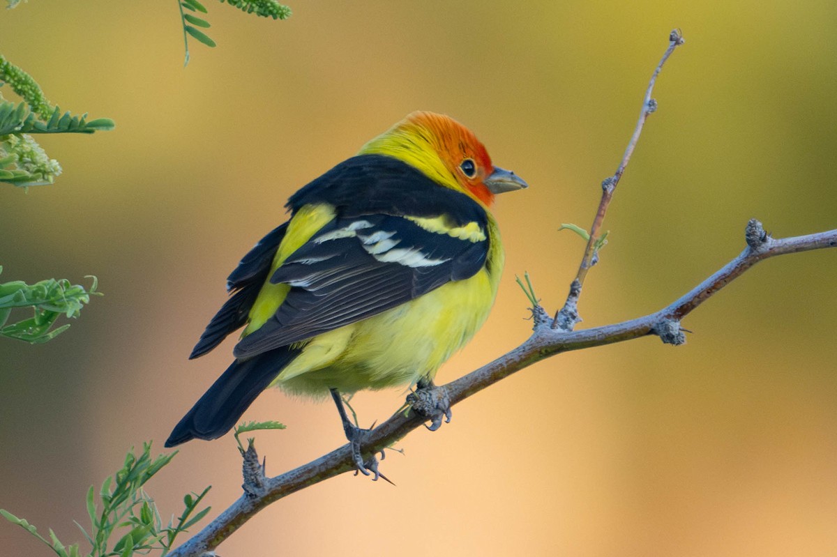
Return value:
[(282, 238), (285, 238), (287, 227), (285, 222), (259, 240), (259, 243), (241, 259), (238, 267), (229, 274), (227, 290), (232, 293), (232, 297), (218, 309), (218, 313), (209, 322), (192, 350), (192, 355), (189, 355), (190, 360), (206, 354), (227, 338), (227, 335), (244, 326), (250, 308), (264, 281), (267, 280), (270, 265)]

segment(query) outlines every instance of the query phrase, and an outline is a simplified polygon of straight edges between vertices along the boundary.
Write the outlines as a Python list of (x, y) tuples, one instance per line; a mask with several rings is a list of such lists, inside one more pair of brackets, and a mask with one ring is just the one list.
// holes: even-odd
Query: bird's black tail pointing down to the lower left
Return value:
[(177, 423), (166, 447), (196, 438), (215, 439), (229, 432), (256, 396), (299, 353), (283, 347), (248, 360), (235, 360)]

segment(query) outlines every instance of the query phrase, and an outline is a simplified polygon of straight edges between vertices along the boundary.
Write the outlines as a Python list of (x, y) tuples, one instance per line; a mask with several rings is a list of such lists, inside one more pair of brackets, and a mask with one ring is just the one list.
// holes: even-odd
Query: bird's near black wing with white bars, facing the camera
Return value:
[(234, 355), (247, 358), (310, 339), (473, 276), (489, 249), (485, 221), (477, 226), (481, 236), (456, 238), (408, 217), (337, 217), (276, 269), (270, 282), (290, 284), (290, 292), (271, 319), (239, 341)]

